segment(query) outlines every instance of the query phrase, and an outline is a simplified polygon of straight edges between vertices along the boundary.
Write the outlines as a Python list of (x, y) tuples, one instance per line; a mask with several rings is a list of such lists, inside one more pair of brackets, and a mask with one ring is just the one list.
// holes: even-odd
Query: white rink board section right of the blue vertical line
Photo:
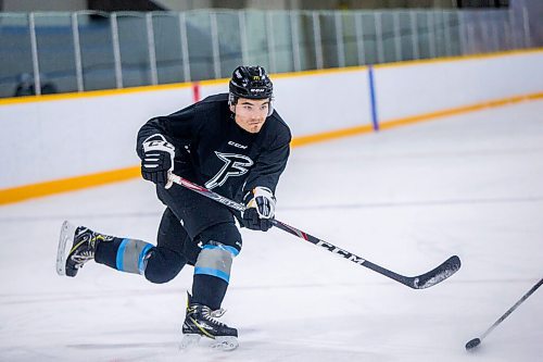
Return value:
[(543, 91), (543, 52), (378, 67), (381, 122)]

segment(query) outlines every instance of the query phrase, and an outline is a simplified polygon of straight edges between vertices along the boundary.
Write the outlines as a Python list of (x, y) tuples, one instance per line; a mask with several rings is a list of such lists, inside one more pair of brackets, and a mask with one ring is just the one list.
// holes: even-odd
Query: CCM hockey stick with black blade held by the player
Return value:
[[(225, 198), (212, 190), (206, 189), (205, 187), (199, 186), (197, 184), (193, 184), (189, 182), (188, 179), (185, 179), (180, 176), (171, 174), (168, 178), (168, 184), (166, 185), (166, 188), (171, 187), (172, 184), (177, 184), (182, 187), (186, 187), (188, 189), (191, 189), (192, 191), (195, 191), (202, 196), (205, 196), (206, 198), (210, 198), (212, 200), (215, 200), (224, 205), (227, 205), (230, 209), (237, 210), (237, 211), (244, 211), (245, 205), (238, 203), (236, 201), (232, 201), (228, 198)], [(425, 289), (428, 287), (431, 287), (440, 282), (443, 282), (454, 273), (458, 271), (460, 267), (460, 259), (456, 255), (449, 258), (445, 262), (443, 262), (441, 265), (438, 267), (433, 269), (432, 271), (418, 275), (418, 276), (404, 276), (396, 274), (394, 272), (389, 271), (388, 269), (384, 269), (382, 266), (379, 266), (377, 264), (371, 263), (370, 261), (365, 260), (364, 258), (361, 258), (358, 255), (353, 254), (350, 251), (343, 250), (341, 248), (338, 248), (327, 241), (320, 240), (307, 233), (304, 233), (293, 226), (287, 225), (283, 222), (280, 222), (278, 220), (272, 220), (272, 223), (274, 226), (280, 228), (283, 232), (287, 232), (289, 234), (292, 234), (294, 236), (298, 236), (299, 238), (302, 238), (306, 241), (310, 241), (317, 247), (321, 247), (330, 252), (333, 252), (334, 254), (338, 254), (340, 257), (345, 258), (346, 260), (352, 261), (353, 263), (356, 263), (362, 266), (366, 266), (367, 269), (372, 270), (374, 272), (377, 272), (381, 275), (388, 276), (389, 278), (396, 280), (403, 285), (408, 286), (409, 288), (413, 289)]]

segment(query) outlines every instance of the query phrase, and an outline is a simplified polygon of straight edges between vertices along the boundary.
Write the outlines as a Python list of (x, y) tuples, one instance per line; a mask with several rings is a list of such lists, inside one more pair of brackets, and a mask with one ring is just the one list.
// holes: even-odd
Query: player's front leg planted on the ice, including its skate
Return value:
[(237, 329), (215, 319), (228, 288), (233, 258), (241, 250), (233, 215), (226, 207), (176, 185), (157, 190), (191, 240), (186, 244), (185, 254), (194, 265), (193, 296), (189, 296), (182, 332), (186, 336), (213, 338), (218, 348), (236, 348)]

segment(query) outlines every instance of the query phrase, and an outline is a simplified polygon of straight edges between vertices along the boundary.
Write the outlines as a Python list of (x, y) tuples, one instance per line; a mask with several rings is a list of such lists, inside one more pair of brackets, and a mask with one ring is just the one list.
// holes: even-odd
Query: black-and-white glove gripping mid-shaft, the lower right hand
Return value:
[(274, 224), (275, 197), (267, 187), (255, 187), (245, 195), (247, 209), (241, 213), (243, 226), (267, 232)]

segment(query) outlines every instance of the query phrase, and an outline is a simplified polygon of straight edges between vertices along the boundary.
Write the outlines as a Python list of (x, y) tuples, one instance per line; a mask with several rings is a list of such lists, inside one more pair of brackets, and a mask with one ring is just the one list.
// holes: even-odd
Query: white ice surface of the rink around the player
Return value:
[[(5, 155), (4, 155), (5, 157)], [(543, 102), (294, 149), (277, 217), (399, 273), (458, 254), (412, 290), (288, 235), (243, 230), (223, 317), (233, 352), (179, 352), (187, 267), (166, 285), (89, 263), (54, 272), (63, 220), (154, 242), (134, 180), (0, 208), (1, 361), (543, 361)]]

